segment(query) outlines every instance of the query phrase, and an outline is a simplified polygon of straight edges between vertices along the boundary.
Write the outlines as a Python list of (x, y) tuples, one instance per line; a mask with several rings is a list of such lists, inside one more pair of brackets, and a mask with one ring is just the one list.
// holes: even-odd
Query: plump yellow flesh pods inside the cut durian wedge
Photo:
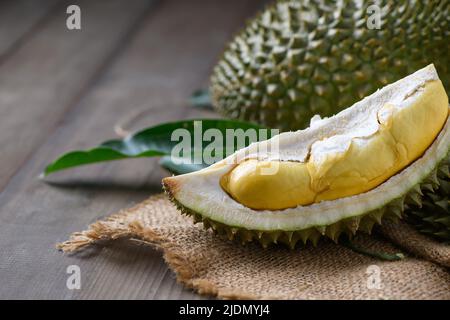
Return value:
[[(331, 135), (312, 144), (304, 162), (248, 159), (221, 178), (237, 202), (258, 210), (280, 210), (369, 191), (419, 158), (448, 116), (439, 80), (418, 88), (407, 106), (385, 104), (378, 130), (369, 136)], [(272, 174), (268, 167), (275, 166)]]

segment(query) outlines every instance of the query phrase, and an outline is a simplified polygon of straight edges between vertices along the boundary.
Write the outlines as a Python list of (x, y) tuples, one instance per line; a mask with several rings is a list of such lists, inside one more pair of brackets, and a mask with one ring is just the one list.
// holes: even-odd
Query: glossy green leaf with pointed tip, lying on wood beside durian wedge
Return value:
[[(201, 128), (199, 126), (201, 126)], [(183, 154), (182, 157), (192, 158), (195, 154), (201, 154), (204, 147), (210, 143), (209, 141), (202, 141), (200, 145), (195, 145), (195, 132), (198, 132), (199, 130), (199, 132), (203, 134), (208, 129), (218, 129), (225, 137), (226, 129), (242, 129), (246, 131), (248, 129), (259, 130), (265, 128), (252, 123), (222, 119), (194, 119), (160, 124), (139, 131), (123, 140), (110, 140), (90, 150), (77, 150), (63, 154), (54, 162), (50, 163), (45, 168), (42, 175), (46, 176), (56, 171), (97, 162), (171, 155), (172, 148), (179, 143), (179, 140), (171, 140), (172, 133), (176, 129), (185, 129), (190, 134), (191, 145), (193, 147), (189, 150), (188, 154)], [(269, 135), (270, 134), (272, 134), (272, 132), (269, 131)], [(252, 141), (246, 140), (245, 145), (248, 145), (250, 142)], [(233, 143), (233, 145), (235, 146), (236, 143)], [(221, 156), (223, 157), (235, 151), (226, 149), (225, 139), (222, 146), (223, 148), (220, 151), (222, 152)], [(182, 168), (176, 169), (175, 166), (177, 165), (173, 162), (169, 164), (167, 159), (163, 160), (163, 163), (166, 163), (166, 167), (171, 168), (174, 172), (177, 172), (177, 170), (179, 170), (179, 172), (186, 170)], [(201, 166), (203, 166), (203, 164)], [(191, 167), (191, 169), (193, 168), (194, 167)]]

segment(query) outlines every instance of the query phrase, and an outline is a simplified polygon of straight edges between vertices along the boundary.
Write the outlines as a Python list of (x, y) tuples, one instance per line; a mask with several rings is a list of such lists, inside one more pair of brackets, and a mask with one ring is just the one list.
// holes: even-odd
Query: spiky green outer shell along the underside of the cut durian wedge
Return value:
[[(163, 188), (168, 194), (170, 200), (178, 207), (182, 214), (191, 216), (194, 219), (194, 223), (203, 223), (203, 227), (205, 229), (212, 229), (215, 233), (225, 236), (229, 240), (239, 241), (242, 244), (246, 244), (251, 241), (258, 241), (263, 247), (267, 247), (271, 243), (281, 243), (293, 249), (298, 242), (303, 244), (312, 243), (313, 245), (316, 245), (321, 237), (327, 237), (334, 242), (338, 242), (339, 237), (343, 234), (348, 237), (352, 237), (357, 232), (365, 232), (370, 234), (374, 225), (381, 225), (385, 220), (398, 221), (399, 219), (404, 218), (405, 210), (409, 210), (409, 215), (412, 217), (413, 212), (415, 211), (411, 211), (410, 208), (419, 207), (422, 203), (425, 204), (429, 201), (428, 197), (433, 197), (433, 192), (435, 192), (435, 190), (441, 190), (443, 193), (447, 192), (448, 194), (448, 179), (444, 181), (441, 177), (444, 173), (448, 178), (449, 162), (450, 153), (447, 155), (445, 160), (439, 163), (436, 169), (427, 178), (416, 184), (402, 197), (394, 199), (382, 208), (367, 212), (361, 216), (347, 218), (330, 225), (316, 226), (314, 228), (297, 231), (261, 231), (230, 227), (218, 221), (206, 218), (201, 214), (183, 206), (173, 197), (170, 190), (167, 189), (164, 184)], [(443, 184), (441, 185), (441, 183)], [(424, 197), (425, 199), (423, 199)], [(448, 201), (448, 198), (446, 199)], [(436, 205), (437, 204), (432, 204), (432, 207), (434, 208)], [(448, 207), (446, 210), (448, 217)], [(432, 212), (434, 211), (431, 211), (431, 213)], [(433, 217), (434, 219), (435, 215), (431, 213), (427, 217)], [(420, 223), (428, 223), (427, 217), (421, 218)], [(449, 220), (447, 219), (445, 221), (445, 223), (448, 224)], [(440, 222), (440, 220), (433, 221), (434, 224), (436, 224), (436, 222)], [(441, 229), (434, 230), (436, 233), (436, 230)]]

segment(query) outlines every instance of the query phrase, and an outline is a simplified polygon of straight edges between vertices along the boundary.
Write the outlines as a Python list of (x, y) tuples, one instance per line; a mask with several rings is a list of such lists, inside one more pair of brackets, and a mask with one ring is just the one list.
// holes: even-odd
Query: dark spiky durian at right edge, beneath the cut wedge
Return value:
[(438, 188), (424, 192), (421, 203), (410, 204), (406, 210), (407, 221), (420, 232), (442, 241), (450, 241), (450, 158), (437, 172)]

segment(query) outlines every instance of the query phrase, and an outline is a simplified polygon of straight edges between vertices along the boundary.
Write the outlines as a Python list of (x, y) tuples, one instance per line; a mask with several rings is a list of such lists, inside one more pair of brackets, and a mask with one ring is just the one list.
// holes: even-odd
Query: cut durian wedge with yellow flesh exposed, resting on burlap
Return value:
[(295, 247), (370, 233), (383, 219), (401, 218), (423, 189), (438, 187), (436, 172), (449, 157), (448, 113), (429, 65), (305, 130), (165, 178), (163, 186), (183, 213), (242, 243)]

